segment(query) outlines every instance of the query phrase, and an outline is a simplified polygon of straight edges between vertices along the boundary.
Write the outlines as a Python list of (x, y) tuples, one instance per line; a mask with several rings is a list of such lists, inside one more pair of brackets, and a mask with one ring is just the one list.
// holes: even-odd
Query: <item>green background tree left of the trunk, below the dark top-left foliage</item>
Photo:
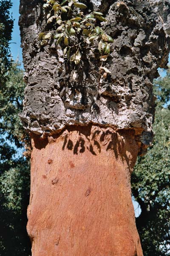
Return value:
[(7, 78), (0, 88), (0, 255), (28, 256), (31, 255), (26, 233), (30, 148), (18, 116), (25, 87), (19, 63), (12, 64)]

